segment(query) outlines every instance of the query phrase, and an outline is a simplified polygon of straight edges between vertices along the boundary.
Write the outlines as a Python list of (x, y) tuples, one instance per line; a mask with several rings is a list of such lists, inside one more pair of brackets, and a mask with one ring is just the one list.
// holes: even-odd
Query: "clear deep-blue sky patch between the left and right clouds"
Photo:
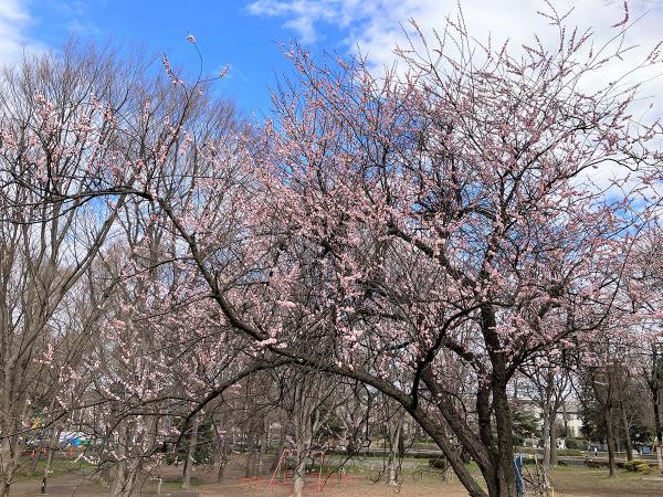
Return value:
[[(165, 52), (173, 65), (197, 70), (198, 56), (186, 41), (192, 33), (203, 54), (203, 70), (214, 74), (229, 64), (227, 80), (218, 85), (245, 112), (260, 112), (269, 107), (267, 85), (290, 68), (278, 42), (299, 36), (284, 27), (283, 20), (252, 14), (249, 7), (249, 2), (209, 0), (34, 0), (23, 34), (51, 47), (61, 46), (72, 34), (109, 39), (128, 49)], [(326, 46), (340, 43), (339, 30), (333, 25), (320, 29)]]

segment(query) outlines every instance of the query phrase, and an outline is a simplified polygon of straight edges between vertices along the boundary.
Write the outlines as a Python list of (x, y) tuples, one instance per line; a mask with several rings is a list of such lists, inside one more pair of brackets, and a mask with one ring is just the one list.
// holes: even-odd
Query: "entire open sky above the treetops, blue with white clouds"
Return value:
[[(572, 21), (593, 27), (599, 38), (612, 35), (610, 25), (623, 18), (621, 0), (554, 3), (560, 10), (575, 7)], [(630, 2), (632, 18), (646, 12), (633, 30), (634, 43), (655, 43), (662, 4)], [(490, 32), (494, 46), (507, 38), (516, 45), (529, 42), (534, 30), (546, 40), (547, 27), (536, 15), (545, 8), (541, 0), (462, 0), (461, 6), (472, 33), (485, 40)], [(173, 65), (197, 70), (197, 54), (186, 41), (191, 33), (207, 72), (231, 66), (220, 89), (260, 115), (269, 113), (267, 87), (290, 70), (278, 42), (297, 39), (314, 52), (360, 50), (381, 66), (393, 62), (392, 47), (404, 42), (409, 19), (430, 34), (455, 9), (456, 0), (0, 0), (0, 62), (11, 63), (25, 49), (57, 50), (73, 34), (128, 49), (143, 45), (167, 53)]]

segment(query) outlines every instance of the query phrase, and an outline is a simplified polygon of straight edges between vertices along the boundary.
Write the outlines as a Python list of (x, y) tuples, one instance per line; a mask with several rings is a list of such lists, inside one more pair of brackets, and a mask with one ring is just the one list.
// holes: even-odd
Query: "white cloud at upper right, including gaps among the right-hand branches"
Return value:
[[(551, 0), (551, 3), (559, 13), (572, 9), (567, 24), (578, 25), (581, 31), (591, 28), (596, 45), (614, 36), (619, 30), (613, 25), (624, 19), (622, 0)], [(284, 19), (285, 27), (293, 29), (304, 43), (317, 41), (317, 30), (323, 24), (339, 29), (348, 51), (359, 50), (368, 56), (371, 66), (379, 68), (394, 63), (397, 57), (393, 49), (407, 45), (406, 33), (417, 41), (418, 36), (409, 24), (410, 19), (417, 21), (430, 40), (433, 30), (444, 28), (446, 17), (455, 19), (457, 4), (456, 0), (257, 0), (249, 6), (249, 11), (256, 15)], [(484, 43), (490, 35), (493, 49), (508, 40), (512, 54), (518, 53), (522, 44), (532, 45), (535, 32), (544, 45), (558, 42), (557, 31), (544, 17), (537, 15), (537, 11), (548, 10), (543, 0), (460, 0), (460, 4), (469, 32)], [(641, 62), (663, 36), (663, 0), (631, 0), (629, 11), (629, 22), (642, 19), (628, 30), (625, 42), (639, 47), (630, 52), (624, 61), (612, 63), (608, 71), (586, 78), (583, 87), (604, 86)], [(657, 98), (663, 95), (661, 70), (659, 65), (646, 73), (632, 75), (633, 81), (651, 78), (642, 88), (645, 101), (635, 108), (636, 117), (642, 113), (645, 121), (663, 115), (663, 102)], [(653, 104), (651, 109), (650, 103)], [(613, 173), (611, 168), (600, 168), (592, 179), (604, 186)]]

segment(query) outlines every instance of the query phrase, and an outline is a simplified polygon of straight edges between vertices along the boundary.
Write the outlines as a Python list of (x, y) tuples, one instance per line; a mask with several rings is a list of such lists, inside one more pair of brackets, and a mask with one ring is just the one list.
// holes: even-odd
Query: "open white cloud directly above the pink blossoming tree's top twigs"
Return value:
[[(599, 35), (614, 32), (611, 25), (623, 18), (620, 0), (554, 0), (559, 12), (573, 8), (570, 23), (591, 27)], [(547, 21), (536, 14), (547, 10), (541, 0), (462, 0), (460, 2), (467, 28), (480, 40), (491, 33), (495, 45), (509, 39), (513, 44), (529, 42), (532, 34), (545, 32)], [(630, 1), (631, 19), (648, 12), (632, 30), (638, 42), (651, 42), (661, 32), (663, 1)], [(455, 15), (455, 0), (256, 0), (248, 10), (255, 15), (283, 18), (305, 43), (318, 40), (322, 24), (346, 31), (348, 46), (359, 45), (373, 64), (393, 61), (393, 46), (404, 40), (403, 27), (412, 32), (408, 21), (414, 19), (424, 33), (444, 25), (446, 15)]]

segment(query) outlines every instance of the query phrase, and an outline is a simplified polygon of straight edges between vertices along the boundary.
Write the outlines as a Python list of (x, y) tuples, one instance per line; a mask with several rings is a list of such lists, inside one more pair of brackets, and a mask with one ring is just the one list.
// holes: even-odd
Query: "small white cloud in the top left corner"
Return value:
[(24, 50), (42, 50), (29, 40), (25, 30), (32, 22), (25, 0), (0, 0), (0, 64), (19, 60)]

